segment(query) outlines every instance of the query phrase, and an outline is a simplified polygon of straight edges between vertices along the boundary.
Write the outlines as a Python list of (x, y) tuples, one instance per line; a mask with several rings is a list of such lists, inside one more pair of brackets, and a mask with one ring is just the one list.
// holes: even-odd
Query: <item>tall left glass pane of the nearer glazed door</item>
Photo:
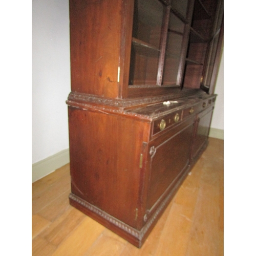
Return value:
[(164, 13), (158, 0), (135, 0), (130, 85), (157, 84)]

